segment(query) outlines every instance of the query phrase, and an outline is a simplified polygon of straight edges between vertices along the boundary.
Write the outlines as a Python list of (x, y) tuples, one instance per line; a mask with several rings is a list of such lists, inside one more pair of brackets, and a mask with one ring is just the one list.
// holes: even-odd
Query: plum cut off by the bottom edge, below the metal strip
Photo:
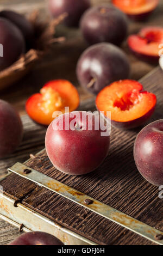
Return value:
[(17, 237), (9, 245), (64, 245), (64, 243), (51, 234), (32, 231)]

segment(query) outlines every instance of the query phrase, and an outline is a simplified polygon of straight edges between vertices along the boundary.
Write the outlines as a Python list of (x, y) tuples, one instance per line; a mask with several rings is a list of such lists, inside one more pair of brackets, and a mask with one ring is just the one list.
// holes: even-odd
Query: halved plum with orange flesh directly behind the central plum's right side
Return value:
[(105, 87), (96, 98), (98, 111), (111, 112), (111, 124), (131, 129), (142, 125), (151, 117), (156, 96), (143, 91), (142, 84), (134, 80), (120, 80)]

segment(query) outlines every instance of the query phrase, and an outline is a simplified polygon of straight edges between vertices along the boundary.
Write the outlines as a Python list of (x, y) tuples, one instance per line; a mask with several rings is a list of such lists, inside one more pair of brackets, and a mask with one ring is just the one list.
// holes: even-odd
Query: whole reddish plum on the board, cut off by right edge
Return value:
[(134, 144), (134, 160), (140, 174), (156, 186), (163, 185), (163, 119), (144, 127)]

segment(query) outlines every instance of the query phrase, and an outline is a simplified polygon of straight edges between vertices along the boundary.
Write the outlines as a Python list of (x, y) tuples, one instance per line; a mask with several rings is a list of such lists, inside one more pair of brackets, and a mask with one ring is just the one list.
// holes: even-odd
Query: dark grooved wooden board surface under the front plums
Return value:
[[(151, 120), (162, 118), (163, 71), (155, 69), (142, 79), (145, 89), (158, 99)], [(158, 187), (145, 181), (135, 167), (133, 144), (140, 129), (111, 130), (111, 147), (105, 162), (95, 172), (83, 176), (62, 174), (51, 166), (45, 151), (27, 165), (163, 231), (162, 199)], [(5, 194), (21, 199), (29, 208), (101, 245), (152, 245), (151, 241), (112, 223), (70, 200), (11, 174), (1, 184)]]

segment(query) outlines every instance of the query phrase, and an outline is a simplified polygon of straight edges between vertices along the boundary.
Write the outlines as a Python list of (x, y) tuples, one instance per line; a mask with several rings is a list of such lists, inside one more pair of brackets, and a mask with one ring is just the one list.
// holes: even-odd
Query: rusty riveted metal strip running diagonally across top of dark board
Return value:
[[(31, 172), (29, 174), (24, 174), (24, 169), (30, 169)], [(131, 230), (134, 233), (139, 234), (146, 239), (157, 243), (158, 245), (163, 245), (163, 232), (153, 227), (150, 227), (145, 223), (137, 221), (134, 218), (123, 214), (123, 212), (120, 212), (110, 207), (109, 205), (103, 204), (98, 200), (86, 196), (86, 194), (74, 190), (74, 188), (72, 187), (62, 184), (61, 182), (54, 180), (45, 174), (37, 172), (36, 170), (29, 168), (21, 163), (14, 164), (14, 166), (9, 168), (8, 170), (9, 172), (14, 172), (30, 181), (35, 182), (42, 187), (45, 187), (57, 194), (60, 194), (60, 196), (65, 197), (83, 206), (84, 208), (89, 209), (96, 214), (101, 215), (102, 217), (107, 218), (108, 220)], [(92, 204), (87, 205), (86, 203), (84, 203), (86, 199), (90, 199), (92, 201)], [(162, 240), (158, 240), (159, 235)]]

